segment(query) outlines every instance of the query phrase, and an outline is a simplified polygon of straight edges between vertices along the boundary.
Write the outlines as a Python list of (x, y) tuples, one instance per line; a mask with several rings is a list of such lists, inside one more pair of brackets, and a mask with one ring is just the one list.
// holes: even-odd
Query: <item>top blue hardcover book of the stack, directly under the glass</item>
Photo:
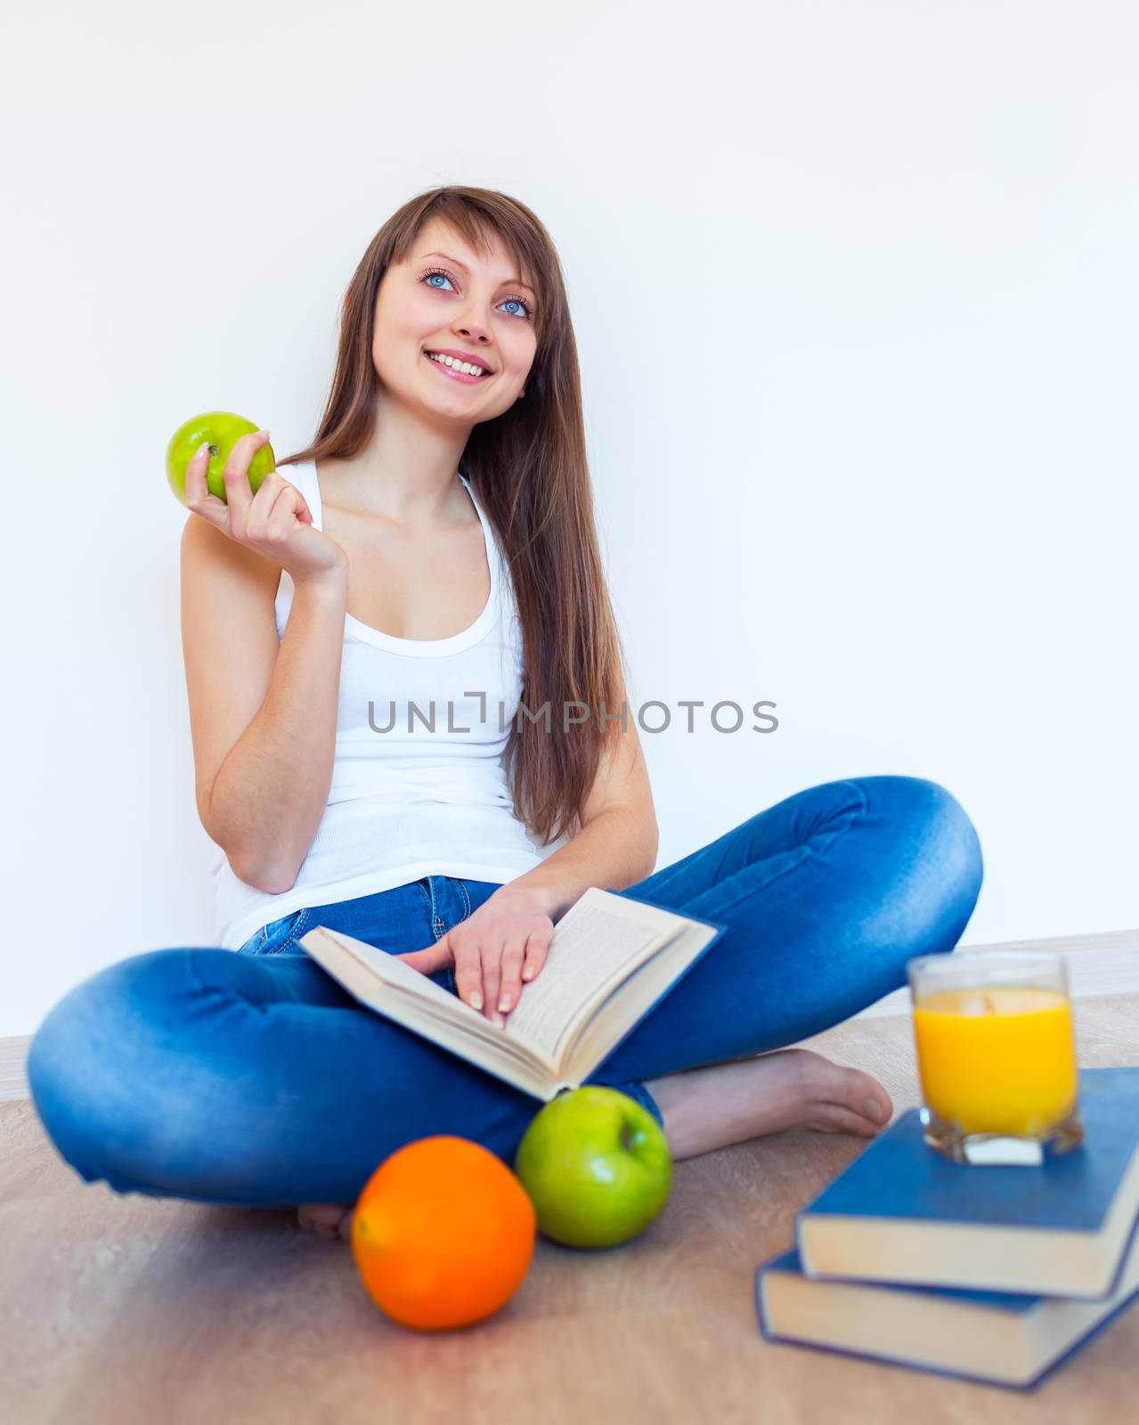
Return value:
[(1085, 1141), (1032, 1167), (954, 1163), (918, 1110), (795, 1223), (808, 1277), (1101, 1300), (1139, 1213), (1139, 1067), (1079, 1076)]

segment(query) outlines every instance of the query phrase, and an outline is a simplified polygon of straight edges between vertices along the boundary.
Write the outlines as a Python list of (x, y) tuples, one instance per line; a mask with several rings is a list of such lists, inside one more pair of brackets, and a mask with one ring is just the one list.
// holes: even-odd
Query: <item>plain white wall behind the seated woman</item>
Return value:
[(1138, 925), (1136, 41), (1035, 0), (10, 9), (0, 1035), (210, 943), (165, 443), (308, 440), (439, 182), (562, 252), (633, 700), (777, 703), (643, 738), (657, 864), (908, 772), (979, 828), (967, 942)]

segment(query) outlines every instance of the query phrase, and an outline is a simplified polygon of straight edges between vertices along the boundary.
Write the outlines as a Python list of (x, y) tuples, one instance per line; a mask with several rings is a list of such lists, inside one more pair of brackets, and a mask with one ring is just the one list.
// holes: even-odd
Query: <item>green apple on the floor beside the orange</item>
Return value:
[(616, 1247), (669, 1201), (673, 1154), (636, 1099), (586, 1084), (539, 1109), (515, 1154), (543, 1235), (566, 1247)]

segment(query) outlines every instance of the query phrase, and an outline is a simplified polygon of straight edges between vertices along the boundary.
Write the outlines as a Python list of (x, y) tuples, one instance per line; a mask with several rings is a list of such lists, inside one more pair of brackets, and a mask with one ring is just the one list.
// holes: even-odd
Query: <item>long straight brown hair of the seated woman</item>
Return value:
[[(623, 650), (602, 569), (586, 460), (577, 343), (557, 251), (537, 217), (490, 188), (448, 185), (405, 202), (368, 245), (345, 295), (336, 369), (316, 436), (277, 465), (351, 459), (375, 423), (376, 295), (421, 229), (440, 218), (483, 255), (498, 235), (537, 294), (526, 396), (476, 425), (462, 455), (503, 549), (522, 621), (522, 703), (506, 742), (513, 811), (543, 845), (580, 829), (606, 740), (620, 735)], [(546, 717), (537, 712), (549, 703)], [(570, 721), (563, 730), (563, 708)], [(603, 718), (604, 714), (604, 718)]]

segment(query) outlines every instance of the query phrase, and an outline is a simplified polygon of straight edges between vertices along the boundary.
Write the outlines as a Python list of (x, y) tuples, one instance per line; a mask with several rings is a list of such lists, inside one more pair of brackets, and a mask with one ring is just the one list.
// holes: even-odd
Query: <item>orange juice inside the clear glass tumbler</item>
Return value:
[(962, 1133), (1032, 1137), (1075, 1107), (1072, 1007), (1055, 989), (939, 990), (914, 1006), (927, 1106)]

